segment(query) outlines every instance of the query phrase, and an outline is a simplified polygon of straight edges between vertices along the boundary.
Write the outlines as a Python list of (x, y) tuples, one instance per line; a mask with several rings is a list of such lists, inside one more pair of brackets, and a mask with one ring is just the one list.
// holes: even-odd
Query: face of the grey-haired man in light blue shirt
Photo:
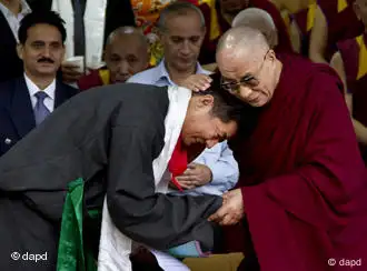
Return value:
[(185, 16), (170, 14), (165, 23), (166, 30), (160, 33), (160, 39), (168, 66), (178, 71), (195, 68), (205, 37), (199, 14), (195, 11)]

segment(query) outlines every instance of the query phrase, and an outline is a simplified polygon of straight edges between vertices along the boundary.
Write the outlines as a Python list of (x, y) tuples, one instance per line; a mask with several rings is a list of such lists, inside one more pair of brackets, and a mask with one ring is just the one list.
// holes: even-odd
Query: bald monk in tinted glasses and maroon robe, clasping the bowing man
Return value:
[(250, 28), (226, 32), (216, 57), (221, 87), (254, 110), (230, 141), (239, 189), (210, 218), (244, 221), (240, 270), (367, 270), (367, 175), (336, 72)]

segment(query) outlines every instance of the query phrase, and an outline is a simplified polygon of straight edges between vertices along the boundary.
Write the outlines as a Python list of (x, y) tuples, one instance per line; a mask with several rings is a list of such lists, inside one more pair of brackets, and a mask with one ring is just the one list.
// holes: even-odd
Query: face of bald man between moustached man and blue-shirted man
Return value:
[(125, 82), (148, 68), (148, 46), (138, 34), (117, 36), (106, 48), (105, 61), (111, 73), (111, 82)]

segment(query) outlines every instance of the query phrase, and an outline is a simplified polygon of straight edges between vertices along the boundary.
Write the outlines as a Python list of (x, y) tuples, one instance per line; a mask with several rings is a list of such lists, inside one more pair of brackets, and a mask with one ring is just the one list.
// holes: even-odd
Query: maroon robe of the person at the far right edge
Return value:
[[(366, 47), (367, 34), (363, 38)], [(348, 92), (353, 93), (353, 117), (367, 127), (367, 74), (357, 78), (360, 61), (367, 61), (367, 59), (359, 58), (360, 47), (356, 38), (338, 42), (338, 50), (344, 62)], [(359, 149), (367, 164), (367, 147), (360, 144)]]

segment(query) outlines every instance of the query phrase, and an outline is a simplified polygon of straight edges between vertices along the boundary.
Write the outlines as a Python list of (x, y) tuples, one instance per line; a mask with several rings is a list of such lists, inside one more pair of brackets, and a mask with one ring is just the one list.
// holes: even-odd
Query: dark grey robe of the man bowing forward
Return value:
[[(91, 89), (63, 103), (0, 157), (0, 270), (56, 270), (67, 187), (78, 178), (85, 183), (85, 210), (95, 202), (93, 188), (96, 198), (107, 193), (113, 223), (136, 241), (166, 250), (197, 240), (205, 251), (211, 249), (214, 229), (207, 218), (221, 199), (155, 192), (152, 163), (165, 145), (168, 107), (167, 87)], [(47, 251), (47, 264), (12, 261), (10, 253), (20, 248)]]

